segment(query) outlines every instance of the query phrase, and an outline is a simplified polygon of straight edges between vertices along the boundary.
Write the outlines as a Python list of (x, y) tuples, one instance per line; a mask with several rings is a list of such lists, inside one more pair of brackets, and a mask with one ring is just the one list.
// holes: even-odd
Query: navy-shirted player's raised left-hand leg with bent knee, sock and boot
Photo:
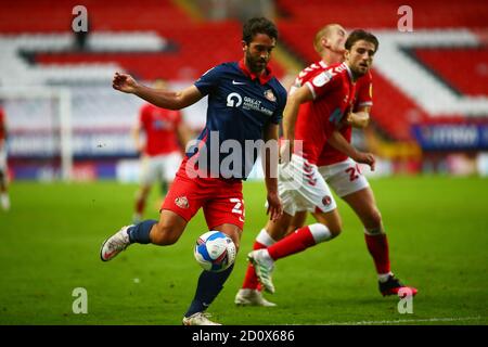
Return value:
[(123, 227), (114, 235), (105, 240), (100, 249), (103, 261), (112, 260), (132, 243), (172, 245), (178, 241), (187, 227), (187, 221), (174, 211), (164, 209), (159, 221), (144, 220), (134, 226)]

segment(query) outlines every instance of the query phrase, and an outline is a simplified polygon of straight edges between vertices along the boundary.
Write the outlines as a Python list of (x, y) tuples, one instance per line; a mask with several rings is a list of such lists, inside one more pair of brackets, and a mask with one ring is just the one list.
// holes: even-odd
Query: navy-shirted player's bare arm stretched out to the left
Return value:
[(115, 73), (112, 87), (125, 93), (138, 95), (141, 99), (168, 110), (181, 110), (190, 106), (203, 98), (195, 86), (175, 92), (154, 89), (139, 83), (130, 75)]

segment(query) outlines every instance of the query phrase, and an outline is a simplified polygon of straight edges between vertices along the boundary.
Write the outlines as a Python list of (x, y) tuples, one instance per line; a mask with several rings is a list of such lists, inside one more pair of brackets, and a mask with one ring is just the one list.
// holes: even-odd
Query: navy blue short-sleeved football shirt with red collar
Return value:
[(201, 172), (236, 179), (251, 172), (264, 128), (280, 124), (286, 104), (286, 90), (269, 69), (267, 73), (254, 76), (243, 61), (223, 63), (195, 82), (200, 92), (208, 95), (207, 120), (197, 147), (187, 156), (197, 156)]

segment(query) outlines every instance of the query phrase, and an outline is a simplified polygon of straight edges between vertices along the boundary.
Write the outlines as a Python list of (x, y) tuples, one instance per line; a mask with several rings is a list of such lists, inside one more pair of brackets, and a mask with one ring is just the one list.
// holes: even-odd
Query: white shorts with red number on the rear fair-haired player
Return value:
[(328, 166), (319, 166), (319, 172), (330, 188), (341, 197), (370, 187), (359, 165), (351, 158)]

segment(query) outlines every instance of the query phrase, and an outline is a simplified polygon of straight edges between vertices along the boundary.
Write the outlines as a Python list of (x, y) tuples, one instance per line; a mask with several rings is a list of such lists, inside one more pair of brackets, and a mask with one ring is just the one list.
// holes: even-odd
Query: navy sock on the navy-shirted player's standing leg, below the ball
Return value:
[(195, 297), (184, 317), (205, 311), (223, 288), (223, 283), (226, 283), (233, 268), (234, 265), (231, 265), (222, 272), (202, 271), (196, 285)]

